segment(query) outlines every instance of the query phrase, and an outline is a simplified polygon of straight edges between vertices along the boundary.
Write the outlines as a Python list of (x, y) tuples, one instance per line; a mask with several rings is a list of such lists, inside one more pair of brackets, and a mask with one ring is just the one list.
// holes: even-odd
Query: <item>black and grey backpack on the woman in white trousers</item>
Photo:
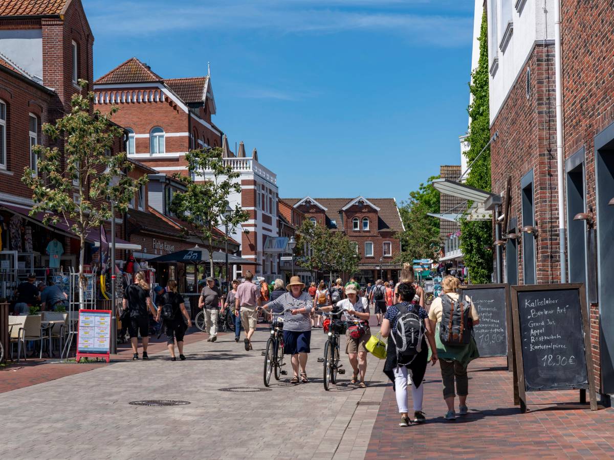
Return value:
[(402, 302), (396, 305), (398, 314), (394, 319), (397, 331), (392, 341), (397, 348), (397, 364), (406, 366), (422, 351), (424, 320), (420, 318), (420, 305)]

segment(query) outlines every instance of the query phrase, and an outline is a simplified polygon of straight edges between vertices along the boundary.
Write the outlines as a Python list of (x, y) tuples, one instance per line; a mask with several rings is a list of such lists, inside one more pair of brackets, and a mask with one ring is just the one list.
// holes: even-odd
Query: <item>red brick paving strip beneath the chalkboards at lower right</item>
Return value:
[[(469, 414), (454, 422), (443, 419), (438, 364), (427, 370), (426, 424), (399, 427), (388, 386), (365, 458), (614, 457), (614, 409), (589, 410), (578, 402), (579, 391), (543, 391), (527, 393), (530, 412), (522, 414), (513, 404), (511, 372), (503, 366), (504, 358), (470, 364)], [(458, 410), (458, 400), (456, 404)]]

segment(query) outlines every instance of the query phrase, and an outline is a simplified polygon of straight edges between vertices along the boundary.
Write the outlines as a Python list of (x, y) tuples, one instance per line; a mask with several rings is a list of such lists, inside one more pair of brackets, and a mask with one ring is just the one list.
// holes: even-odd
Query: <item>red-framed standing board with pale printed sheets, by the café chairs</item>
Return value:
[(111, 353), (111, 310), (79, 310), (77, 362), (81, 357), (103, 358)]

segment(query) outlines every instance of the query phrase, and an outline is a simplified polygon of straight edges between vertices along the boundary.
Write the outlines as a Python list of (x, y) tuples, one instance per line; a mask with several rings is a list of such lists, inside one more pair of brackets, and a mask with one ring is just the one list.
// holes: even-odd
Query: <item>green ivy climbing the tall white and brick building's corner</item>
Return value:
[[(480, 31), (480, 59), (478, 67), (472, 74), (469, 88), (472, 102), (468, 113), (471, 117), (467, 142), (470, 148), (465, 153), (471, 171), (467, 175), (467, 185), (481, 190), (491, 191), (491, 149), (484, 146), (491, 138), (489, 98), (488, 98), (488, 25), (486, 15), (482, 16)], [(478, 158), (478, 155), (479, 158)], [(477, 158), (477, 159), (476, 159)], [(488, 221), (461, 222), (461, 250), (465, 266), (469, 270), (472, 283), (491, 282), (492, 273), (492, 230)]]

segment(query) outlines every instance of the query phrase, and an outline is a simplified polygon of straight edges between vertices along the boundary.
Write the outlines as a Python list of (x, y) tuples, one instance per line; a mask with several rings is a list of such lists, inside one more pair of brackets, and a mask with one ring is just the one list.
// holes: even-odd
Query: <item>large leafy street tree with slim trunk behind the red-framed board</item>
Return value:
[[(79, 80), (84, 90), (85, 80)], [(96, 231), (103, 221), (110, 220), (111, 204), (121, 213), (128, 210), (139, 186), (147, 176), (128, 177), (134, 164), (126, 153), (109, 154), (114, 142), (123, 135), (122, 129), (111, 123), (119, 110), (112, 107), (109, 115), (92, 110), (94, 93), (72, 96), (71, 112), (55, 125), (45, 123), (42, 132), (58, 147), (36, 145), (37, 171), (26, 167), (21, 182), (33, 191), (34, 206), (30, 215), (43, 213), (43, 223), (63, 223), (79, 237), (79, 302), (84, 303), (83, 275), (85, 237)], [(119, 182), (115, 180), (119, 178)]]

